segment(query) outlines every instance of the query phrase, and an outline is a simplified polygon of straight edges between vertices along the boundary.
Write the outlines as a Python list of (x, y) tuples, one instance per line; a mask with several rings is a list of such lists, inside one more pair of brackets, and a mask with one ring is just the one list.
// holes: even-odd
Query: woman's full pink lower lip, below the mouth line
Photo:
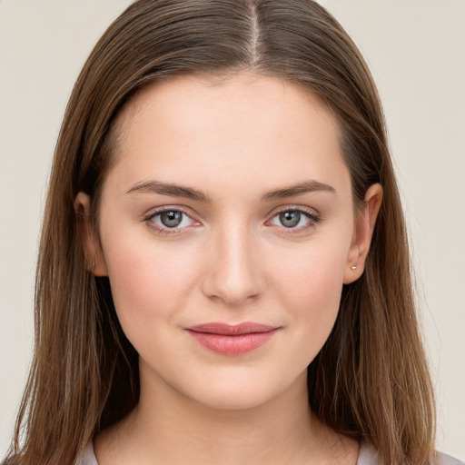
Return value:
[(211, 351), (223, 353), (224, 355), (240, 355), (253, 351), (265, 342), (270, 341), (276, 330), (235, 334), (232, 336), (189, 330), (188, 332), (195, 341)]

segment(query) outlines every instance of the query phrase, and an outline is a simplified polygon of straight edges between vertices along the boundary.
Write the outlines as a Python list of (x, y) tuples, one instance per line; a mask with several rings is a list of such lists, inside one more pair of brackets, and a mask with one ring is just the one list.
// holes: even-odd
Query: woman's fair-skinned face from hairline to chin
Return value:
[(116, 145), (94, 272), (142, 387), (239, 409), (305, 383), (376, 210), (354, 214), (331, 113), (274, 77), (183, 77), (136, 94)]

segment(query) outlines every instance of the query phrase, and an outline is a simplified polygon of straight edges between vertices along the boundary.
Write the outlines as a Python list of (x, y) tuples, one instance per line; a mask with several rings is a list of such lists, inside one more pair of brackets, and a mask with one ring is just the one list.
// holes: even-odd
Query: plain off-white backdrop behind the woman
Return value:
[[(411, 231), (438, 448), (465, 459), (465, 0), (322, 0), (379, 86)], [(0, 0), (0, 457), (33, 343), (54, 143), (86, 56), (128, 0)]]

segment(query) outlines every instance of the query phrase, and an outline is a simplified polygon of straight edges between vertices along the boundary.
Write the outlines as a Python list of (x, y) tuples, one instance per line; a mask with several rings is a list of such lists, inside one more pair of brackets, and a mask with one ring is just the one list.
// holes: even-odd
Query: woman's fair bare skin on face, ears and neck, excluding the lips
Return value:
[[(354, 211), (331, 113), (275, 77), (183, 77), (136, 94), (115, 133), (99, 231), (85, 215), (81, 231), (140, 355), (141, 397), (95, 440), (99, 463), (354, 464), (358, 444), (309, 411), (306, 367), (331, 332), (342, 284), (363, 272), (382, 190), (371, 186)], [(309, 180), (325, 188), (266, 196)], [(153, 181), (203, 198), (141, 189)], [(89, 213), (89, 197), (74, 207)], [(163, 207), (183, 222), (163, 226)], [(283, 225), (280, 213), (298, 211), (310, 217)], [(226, 355), (185, 331), (207, 322), (278, 330)]]

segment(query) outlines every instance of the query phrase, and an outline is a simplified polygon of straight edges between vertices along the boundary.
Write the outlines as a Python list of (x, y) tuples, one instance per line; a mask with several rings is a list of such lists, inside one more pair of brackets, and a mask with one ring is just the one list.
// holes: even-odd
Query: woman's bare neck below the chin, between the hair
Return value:
[(352, 441), (312, 415), (305, 372), (279, 396), (246, 409), (212, 408), (157, 384), (141, 373), (138, 405), (95, 442), (100, 465), (118, 459), (216, 465), (318, 464), (330, 455), (343, 463), (350, 454), (349, 463), (357, 459)]

